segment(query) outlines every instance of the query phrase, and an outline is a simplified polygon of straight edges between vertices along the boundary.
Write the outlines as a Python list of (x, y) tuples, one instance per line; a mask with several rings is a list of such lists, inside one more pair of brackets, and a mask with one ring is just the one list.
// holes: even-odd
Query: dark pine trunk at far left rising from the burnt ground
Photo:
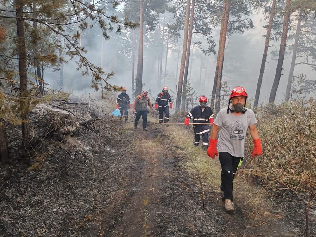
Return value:
[[(19, 52), (19, 76), (20, 76), (20, 111), (21, 111), (21, 130), (22, 130), (22, 150), (27, 152), (30, 147), (30, 129), (28, 125), (29, 93), (27, 91), (27, 73), (26, 73), (26, 52), (25, 36), (23, 23), (23, 0), (15, 1), (16, 10), (16, 29), (17, 44)], [(24, 154), (27, 155), (26, 153)], [(26, 156), (27, 157), (27, 156)], [(28, 157), (27, 157), (28, 158)]]

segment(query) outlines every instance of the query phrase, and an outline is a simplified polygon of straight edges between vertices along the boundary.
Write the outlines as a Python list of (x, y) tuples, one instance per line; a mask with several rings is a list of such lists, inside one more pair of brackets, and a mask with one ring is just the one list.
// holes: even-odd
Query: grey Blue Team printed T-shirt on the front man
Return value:
[(227, 107), (218, 112), (214, 124), (220, 127), (217, 151), (228, 152), (232, 156), (244, 157), (247, 128), (256, 124), (257, 119), (251, 109), (239, 116), (227, 113)]

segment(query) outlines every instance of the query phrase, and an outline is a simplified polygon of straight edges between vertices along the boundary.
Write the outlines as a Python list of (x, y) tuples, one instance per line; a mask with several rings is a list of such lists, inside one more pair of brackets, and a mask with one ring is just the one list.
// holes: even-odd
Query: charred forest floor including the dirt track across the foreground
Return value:
[[(0, 236), (306, 236), (305, 204), (267, 196), (243, 176), (233, 214), (216, 187), (204, 185), (203, 208), (197, 177), (164, 128), (139, 127), (95, 121), (51, 136), (37, 169), (1, 166)], [(18, 128), (10, 131), (15, 144)], [(309, 211), (316, 236), (315, 206)]]

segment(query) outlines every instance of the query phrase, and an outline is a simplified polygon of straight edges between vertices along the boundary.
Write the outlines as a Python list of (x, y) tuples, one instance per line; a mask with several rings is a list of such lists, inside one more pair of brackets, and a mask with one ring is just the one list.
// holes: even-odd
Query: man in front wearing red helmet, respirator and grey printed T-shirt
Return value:
[(234, 210), (233, 180), (244, 157), (245, 136), (248, 127), (254, 143), (251, 156), (262, 154), (255, 114), (251, 109), (245, 108), (247, 97), (248, 95), (243, 87), (237, 86), (231, 90), (228, 107), (220, 110), (216, 116), (210, 135), (210, 146), (207, 149), (207, 155), (212, 159), (215, 158), (215, 155), (219, 155), (222, 165), (222, 201), (225, 202), (227, 211)]

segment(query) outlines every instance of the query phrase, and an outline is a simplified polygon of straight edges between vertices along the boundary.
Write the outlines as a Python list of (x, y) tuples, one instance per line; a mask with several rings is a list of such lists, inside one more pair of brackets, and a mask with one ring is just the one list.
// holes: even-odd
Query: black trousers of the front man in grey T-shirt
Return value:
[(222, 198), (223, 202), (225, 199), (234, 200), (233, 197), (233, 180), (235, 178), (235, 173), (237, 171), (238, 165), (241, 157), (236, 157), (230, 155), (228, 152), (218, 152), (219, 161), (222, 165), (222, 183), (221, 190), (224, 192)]

